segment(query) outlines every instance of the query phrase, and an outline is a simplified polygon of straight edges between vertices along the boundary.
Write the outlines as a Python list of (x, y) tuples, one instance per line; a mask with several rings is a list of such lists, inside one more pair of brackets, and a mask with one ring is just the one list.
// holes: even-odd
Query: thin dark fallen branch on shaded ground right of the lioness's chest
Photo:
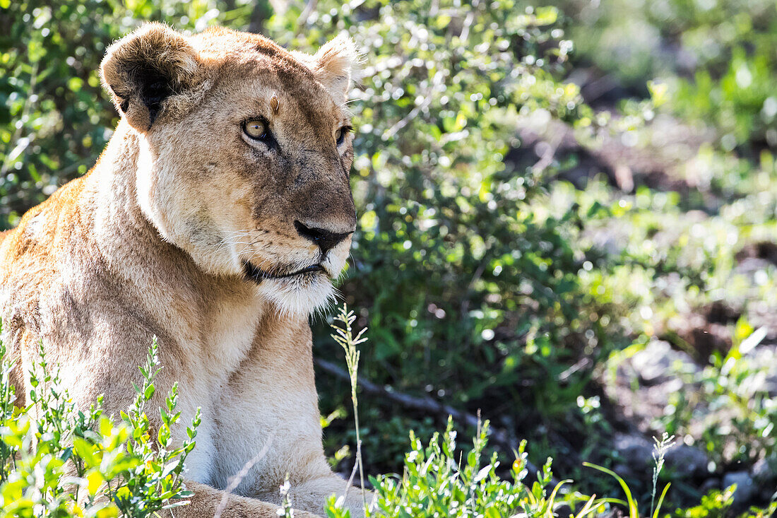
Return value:
[[(346, 370), (336, 366), (333, 362), (316, 358), (315, 364), (321, 367), (324, 372), (331, 374), (332, 376), (336, 376), (342, 380), (350, 380), (350, 375)], [(472, 428), (477, 428), (480, 422), (478, 416), (458, 410), (458, 408), (453, 408), (449, 404), (442, 404), (438, 401), (434, 401), (434, 399), (428, 396), (412, 396), (410, 394), (402, 394), (402, 392), (395, 392), (394, 390), (387, 390), (385, 387), (380, 387), (369, 380), (364, 380), (361, 376), (358, 378), (358, 385), (366, 394), (384, 397), (385, 399), (401, 404), (406, 408), (413, 408), (414, 410), (424, 411), (429, 414), (437, 414), (443, 417), (450, 415), (454, 421), (472, 426)], [(510, 439), (510, 437), (507, 436), (507, 432), (503, 429), (499, 429), (492, 424), (489, 430), (490, 443), (501, 446), (507, 451), (518, 450), (516, 441)], [(526, 460), (526, 468), (529, 473), (532, 474), (540, 471), (538, 467), (536, 467), (535, 464), (532, 464), (528, 459)], [(551, 485), (556, 485), (559, 481), (554, 477), (551, 479), (550, 483)]]

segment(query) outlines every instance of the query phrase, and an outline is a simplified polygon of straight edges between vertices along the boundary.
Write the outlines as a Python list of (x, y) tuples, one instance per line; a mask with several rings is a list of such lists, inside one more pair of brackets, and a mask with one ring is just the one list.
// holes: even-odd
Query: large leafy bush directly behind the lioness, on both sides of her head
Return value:
[[(0, 225), (12, 226), (54, 186), (85, 172), (110, 138), (116, 114), (97, 70), (111, 40), (142, 19), (183, 30), (245, 27), (253, 4), (10, 5), (0, 35), (9, 49), (0, 60)], [(575, 401), (595, 362), (566, 371), (615, 345), (594, 315), (579, 310), (587, 294), (577, 280), (584, 251), (570, 242), (577, 213), (528, 210), (545, 195), (545, 173), (507, 160), (519, 116), (591, 124), (577, 87), (558, 79), (571, 46), (557, 9), (509, 0), (326, 1), (303, 9), (291, 2), (267, 19), (265, 32), (313, 51), (345, 31), (366, 54), (367, 74), (350, 105), (361, 229), (341, 287), (376, 334), (365, 373), (411, 392), (423, 389), (417, 380), (435, 380), (451, 403), (515, 421), (537, 413), (547, 422), (579, 421)], [(326, 346), (318, 352), (329, 354)], [(507, 397), (492, 408), (495, 394)], [(324, 406), (339, 403), (331, 397)], [(376, 417), (365, 422), (384, 420)], [(387, 426), (368, 434), (370, 450), (383, 446), (376, 467), (402, 457), (399, 438), (425, 417), (407, 419), (385, 419), (401, 433)]]

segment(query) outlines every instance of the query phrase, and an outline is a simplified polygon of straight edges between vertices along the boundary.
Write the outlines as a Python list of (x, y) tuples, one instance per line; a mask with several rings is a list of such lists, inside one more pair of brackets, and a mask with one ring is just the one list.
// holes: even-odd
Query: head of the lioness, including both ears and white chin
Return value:
[(315, 55), (159, 23), (118, 40), (102, 79), (138, 137), (145, 217), (204, 271), (256, 284), (278, 309), (322, 306), (356, 228), (345, 106), (356, 68), (345, 37)]

